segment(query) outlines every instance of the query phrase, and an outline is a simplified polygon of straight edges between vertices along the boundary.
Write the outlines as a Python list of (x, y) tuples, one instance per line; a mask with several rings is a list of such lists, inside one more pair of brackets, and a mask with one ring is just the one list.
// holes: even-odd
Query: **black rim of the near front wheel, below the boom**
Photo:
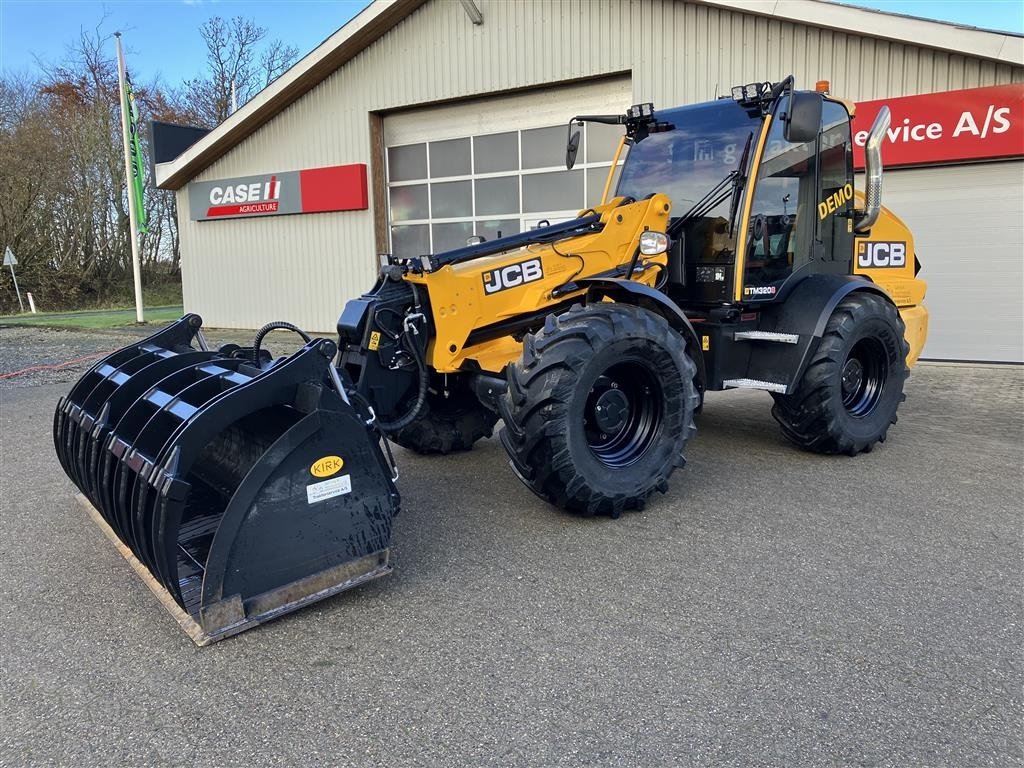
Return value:
[(647, 453), (662, 430), (664, 398), (657, 377), (643, 360), (605, 370), (587, 395), (587, 446), (607, 467), (628, 467)]

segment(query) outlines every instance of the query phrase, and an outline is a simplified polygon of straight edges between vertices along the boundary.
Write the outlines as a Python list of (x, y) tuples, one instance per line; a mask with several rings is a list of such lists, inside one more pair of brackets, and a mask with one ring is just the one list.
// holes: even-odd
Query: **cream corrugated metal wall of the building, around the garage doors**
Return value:
[[(831, 81), (854, 100), (1024, 81), (1024, 70), (681, 0), (431, 0), (198, 179), (368, 163), (368, 113), (630, 73), (669, 106), (730, 86)], [(330, 32), (325, 30), (325, 34)], [(565, 104), (564, 118), (574, 114)], [(193, 222), (178, 191), (185, 307), (210, 326), (330, 331), (376, 271), (372, 211)]]

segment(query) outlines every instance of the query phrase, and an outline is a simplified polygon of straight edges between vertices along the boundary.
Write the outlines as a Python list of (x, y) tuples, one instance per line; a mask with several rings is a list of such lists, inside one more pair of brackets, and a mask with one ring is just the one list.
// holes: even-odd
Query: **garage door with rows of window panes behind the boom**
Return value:
[(622, 126), (588, 123), (566, 171), (566, 123), (622, 114), (631, 96), (630, 80), (616, 78), (387, 116), (392, 253), (437, 253), (596, 205)]

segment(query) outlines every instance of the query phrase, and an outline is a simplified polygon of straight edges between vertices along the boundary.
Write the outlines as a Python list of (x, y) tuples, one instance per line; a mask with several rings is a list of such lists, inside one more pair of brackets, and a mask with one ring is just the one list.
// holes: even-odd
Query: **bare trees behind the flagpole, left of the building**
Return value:
[[(46, 308), (130, 301), (129, 189), (121, 143), (121, 94), (103, 20), (83, 31), (58, 65), (35, 75), (0, 74), (0, 249), (18, 259), (18, 283)], [(200, 30), (207, 72), (179, 87), (134, 79), (140, 125), (148, 120), (215, 125), (230, 111), (231, 83), (244, 103), (295, 60), (297, 51), (241, 16)], [(140, 131), (143, 154), (147, 131)], [(174, 194), (145, 168), (139, 254), (147, 290), (178, 273)], [(0, 311), (17, 307), (0, 271)], [(8, 290), (9, 289), (9, 290)]]

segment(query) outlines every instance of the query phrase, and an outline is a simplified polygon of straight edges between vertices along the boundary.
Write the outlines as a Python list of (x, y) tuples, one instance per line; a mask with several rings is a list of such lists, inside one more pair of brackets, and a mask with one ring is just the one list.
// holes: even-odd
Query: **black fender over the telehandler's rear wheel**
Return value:
[[(759, 328), (762, 331), (799, 334), (800, 343), (796, 345), (796, 349), (790, 347), (796, 353), (797, 359), (790, 358), (787, 366), (780, 365), (778, 359), (766, 359), (766, 371), (759, 373), (755, 370), (757, 360), (752, 358), (752, 378), (768, 377), (769, 370), (776, 372), (791, 370), (793, 375), (788, 387), (790, 391), (793, 391), (818, 348), (818, 342), (824, 334), (825, 326), (828, 325), (828, 318), (839, 303), (855, 291), (873, 293), (892, 302), (889, 294), (867, 278), (856, 274), (812, 274), (794, 286), (783, 300), (760, 305)], [(774, 354), (786, 354), (786, 351), (777, 349)], [(765, 354), (772, 355), (773, 352), (765, 350)]]

